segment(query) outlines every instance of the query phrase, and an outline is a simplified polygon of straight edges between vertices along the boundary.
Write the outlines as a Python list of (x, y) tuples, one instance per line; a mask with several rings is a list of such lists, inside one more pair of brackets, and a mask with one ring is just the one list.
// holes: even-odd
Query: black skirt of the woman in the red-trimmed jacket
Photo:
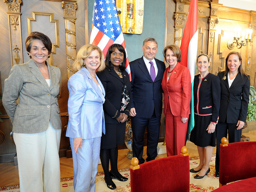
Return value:
[(206, 129), (208, 128), (212, 116), (199, 116), (194, 115), (195, 117), (195, 126), (190, 133), (190, 141), (193, 142), (196, 146), (207, 147), (207, 146), (216, 146), (216, 128), (215, 131), (211, 134), (208, 134)]

